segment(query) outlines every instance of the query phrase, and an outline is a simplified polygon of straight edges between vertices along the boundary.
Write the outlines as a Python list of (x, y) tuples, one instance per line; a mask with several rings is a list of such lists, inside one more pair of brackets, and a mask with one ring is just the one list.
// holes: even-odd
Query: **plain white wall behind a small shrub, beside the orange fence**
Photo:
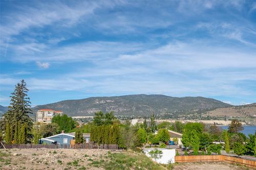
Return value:
[[(147, 157), (150, 157), (150, 154), (148, 154), (148, 152), (150, 152), (152, 150), (155, 150), (155, 148), (145, 148), (145, 149), (143, 149), (143, 151), (144, 151), (144, 153)], [(163, 154), (162, 154), (161, 159), (156, 160), (157, 163), (167, 164), (167, 163), (174, 163), (175, 162), (175, 155), (176, 155), (176, 150), (175, 149), (158, 148), (158, 150), (161, 150), (163, 152)]]

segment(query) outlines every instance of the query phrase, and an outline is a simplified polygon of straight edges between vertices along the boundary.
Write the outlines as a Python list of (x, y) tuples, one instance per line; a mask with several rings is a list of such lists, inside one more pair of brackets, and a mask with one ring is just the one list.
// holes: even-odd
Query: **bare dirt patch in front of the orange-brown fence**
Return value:
[(229, 164), (225, 162), (202, 162), (202, 163), (180, 163), (174, 165), (174, 170), (245, 170), (250, 169), (244, 166)]

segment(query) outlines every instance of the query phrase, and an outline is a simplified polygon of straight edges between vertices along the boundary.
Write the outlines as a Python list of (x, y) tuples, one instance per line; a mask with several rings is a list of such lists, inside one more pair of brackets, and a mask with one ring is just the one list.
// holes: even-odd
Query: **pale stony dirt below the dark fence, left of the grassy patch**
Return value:
[(106, 150), (11, 149), (2, 150), (0, 169), (102, 169), (94, 162), (102, 160)]

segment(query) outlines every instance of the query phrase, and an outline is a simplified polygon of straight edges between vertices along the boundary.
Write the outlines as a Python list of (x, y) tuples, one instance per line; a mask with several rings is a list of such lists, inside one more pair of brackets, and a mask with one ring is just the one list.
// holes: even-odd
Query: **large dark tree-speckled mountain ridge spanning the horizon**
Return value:
[(92, 116), (98, 110), (114, 111), (115, 115), (146, 116), (151, 114), (188, 114), (216, 108), (230, 107), (221, 101), (203, 97), (174, 98), (166, 95), (123, 95), (113, 97), (95, 97), (80, 100), (66, 100), (57, 103), (36, 106), (39, 109), (62, 110), (69, 116)]

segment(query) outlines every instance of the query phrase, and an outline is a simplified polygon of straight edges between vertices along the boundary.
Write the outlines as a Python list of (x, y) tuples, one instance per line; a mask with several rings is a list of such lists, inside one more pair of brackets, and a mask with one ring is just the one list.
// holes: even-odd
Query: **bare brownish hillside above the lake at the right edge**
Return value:
[(217, 108), (206, 112), (209, 116), (256, 117), (256, 103), (228, 108)]

